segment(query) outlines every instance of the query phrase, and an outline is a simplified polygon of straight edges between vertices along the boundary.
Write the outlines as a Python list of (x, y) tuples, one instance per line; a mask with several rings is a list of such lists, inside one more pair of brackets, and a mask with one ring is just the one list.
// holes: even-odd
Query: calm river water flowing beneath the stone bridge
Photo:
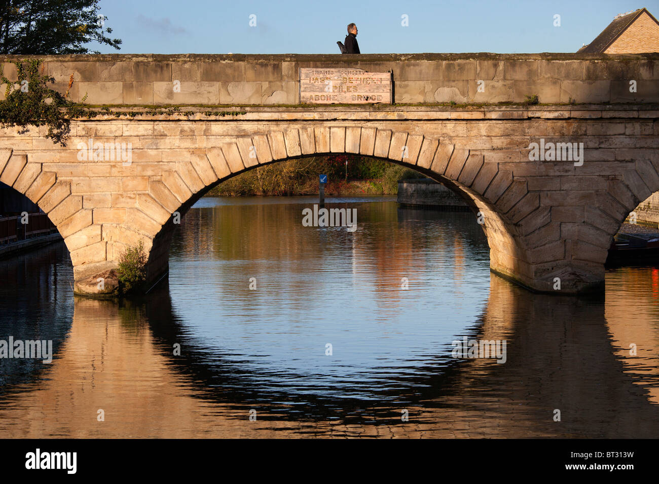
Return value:
[(351, 232), (304, 227), (314, 201), (200, 200), (169, 281), (119, 304), (74, 298), (62, 243), (0, 261), (0, 339), (54, 352), (0, 360), (0, 437), (659, 435), (657, 268), (532, 294), (471, 213), (328, 198)]

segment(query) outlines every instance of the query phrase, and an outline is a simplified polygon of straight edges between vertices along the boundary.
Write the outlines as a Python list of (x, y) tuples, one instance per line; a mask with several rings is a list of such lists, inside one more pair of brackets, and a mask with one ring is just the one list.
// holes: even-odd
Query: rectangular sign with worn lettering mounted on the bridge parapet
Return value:
[(391, 72), (353, 67), (301, 67), (302, 104), (391, 104)]

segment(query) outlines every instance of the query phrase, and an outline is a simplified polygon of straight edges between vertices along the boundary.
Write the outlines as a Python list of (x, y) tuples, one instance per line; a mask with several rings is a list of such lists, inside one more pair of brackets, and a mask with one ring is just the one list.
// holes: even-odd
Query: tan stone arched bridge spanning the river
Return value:
[[(167, 270), (173, 213), (183, 215), (215, 184), (264, 163), (356, 153), (409, 166), (463, 196), (482, 215), (497, 273), (536, 290), (552, 290), (557, 277), (563, 292), (601, 289), (612, 236), (659, 190), (659, 55), (352, 59), (45, 57), (56, 88), (74, 75), (74, 99), (178, 104), (192, 113), (77, 121), (66, 148), (43, 138), (43, 128), (3, 130), (0, 181), (48, 213), (76, 280), (113, 267), (140, 238), (155, 280)], [(396, 103), (428, 104), (300, 105), (299, 67), (391, 70)], [(532, 94), (550, 105), (519, 104)], [(449, 102), (465, 105), (440, 105)], [(239, 113), (208, 111), (220, 104)], [(92, 149), (82, 148), (90, 140)], [(95, 143), (130, 143), (130, 152), (88, 161)], [(533, 143), (546, 147), (539, 159)], [(572, 157), (567, 144), (579, 150)]]

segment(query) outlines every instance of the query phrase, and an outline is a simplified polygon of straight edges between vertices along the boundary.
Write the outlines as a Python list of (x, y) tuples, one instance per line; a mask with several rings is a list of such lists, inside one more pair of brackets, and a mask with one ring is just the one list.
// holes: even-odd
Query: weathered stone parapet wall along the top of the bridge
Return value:
[[(540, 103), (659, 102), (659, 53), (36, 57), (55, 89), (66, 92), (72, 75), (71, 99), (86, 95), (92, 105), (296, 105), (302, 67), (391, 72), (395, 103), (520, 103), (529, 95)], [(10, 80), (21, 58), (0, 57)]]

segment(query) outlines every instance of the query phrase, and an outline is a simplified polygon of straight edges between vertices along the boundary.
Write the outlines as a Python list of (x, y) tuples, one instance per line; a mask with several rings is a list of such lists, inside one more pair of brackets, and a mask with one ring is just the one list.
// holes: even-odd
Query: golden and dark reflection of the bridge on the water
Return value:
[[(533, 295), (494, 275), (491, 281), (488, 309), (474, 334), (507, 339), (507, 362), (459, 360), (441, 372), (440, 361), (421, 365), (416, 379), (397, 382), (401, 402), (370, 407), (371, 402), (331, 398), (299, 408), (295, 400), (273, 404), (291, 402), (295, 395), (285, 388), (254, 387), (235, 367), (224, 373), (221, 365), (209, 364), (208, 353), (190, 346), (181, 333), (167, 288), (123, 308), (77, 299), (51, 380), (36, 391), (20, 385), (13, 407), (0, 408), (0, 417), (13, 417), (3, 418), (9, 425), (1, 432), (12, 437), (39, 437), (39, 432), (199, 437), (202, 429), (209, 436), (236, 437), (273, 437), (281, 431), (357, 435), (355, 429), (362, 435), (413, 437), (656, 435), (658, 407), (612, 356), (601, 301)], [(173, 342), (182, 344), (183, 357), (173, 356)], [(132, 377), (118, 382), (117, 375), (125, 373)], [(407, 423), (400, 420), (405, 400)], [(285, 412), (286, 406), (293, 411)], [(106, 412), (103, 426), (96, 424), (98, 408)], [(259, 409), (259, 421), (246, 426), (250, 408)], [(561, 422), (552, 420), (554, 408), (561, 409)], [(328, 415), (338, 416), (337, 423)], [(38, 428), (14, 425), (36, 419)]]

